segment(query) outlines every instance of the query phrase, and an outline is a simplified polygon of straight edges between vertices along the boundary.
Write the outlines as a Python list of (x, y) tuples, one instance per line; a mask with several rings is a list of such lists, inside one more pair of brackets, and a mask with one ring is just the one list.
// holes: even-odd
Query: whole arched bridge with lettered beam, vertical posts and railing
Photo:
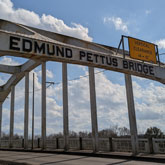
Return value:
[[(124, 54), (124, 55), (123, 55)], [(46, 150), (62, 148), (65, 151), (70, 148), (91, 149), (93, 152), (101, 150), (122, 150), (122, 145), (126, 145), (126, 150), (134, 155), (141, 150), (150, 152), (151, 142), (148, 139), (140, 140), (137, 136), (137, 125), (135, 106), (132, 89), (131, 75), (151, 79), (160, 83), (165, 83), (165, 65), (160, 61), (150, 63), (138, 59), (132, 59), (128, 51), (105, 46), (93, 42), (83, 41), (77, 38), (28, 27), (22, 24), (0, 20), (0, 56), (15, 56), (28, 59), (22, 65), (11, 66), (0, 64), (0, 72), (12, 74), (9, 80), (0, 86), (0, 137), (2, 128), (3, 103), (9, 93), (11, 93), (10, 105), (10, 134), (9, 142), (0, 140), (1, 148), (22, 148), (29, 149), (28, 139), (28, 119), (29, 119), (29, 72), (37, 66), (42, 66), (42, 89), (41, 89), (41, 139), (34, 142), (36, 148)], [(62, 87), (63, 87), (63, 139), (56, 139), (49, 143), (46, 139), (46, 62), (57, 61), (62, 63)], [(88, 66), (90, 105), (91, 105), (91, 125), (92, 139), (70, 139), (68, 126), (68, 80), (67, 63)], [(94, 68), (102, 68), (123, 73), (125, 75), (127, 105), (129, 114), (129, 124), (131, 139), (99, 139), (97, 123), (97, 106), (95, 92)], [(24, 105), (24, 140), (14, 141), (14, 101), (15, 86), (25, 77), (25, 105)], [(153, 142), (155, 142), (153, 140)], [(162, 143), (160, 140), (159, 143)], [(163, 141), (163, 144), (165, 142)], [(7, 145), (6, 145), (7, 144)], [(120, 145), (116, 145), (120, 144)], [(156, 146), (157, 144), (152, 146)], [(51, 147), (50, 147), (51, 146)], [(118, 146), (118, 148), (116, 148)], [(121, 146), (121, 148), (119, 147)], [(141, 149), (139, 146), (143, 146)], [(155, 147), (155, 151), (159, 146)], [(124, 149), (123, 149), (124, 150)], [(163, 148), (165, 152), (165, 149)], [(158, 151), (159, 152), (159, 151)]]

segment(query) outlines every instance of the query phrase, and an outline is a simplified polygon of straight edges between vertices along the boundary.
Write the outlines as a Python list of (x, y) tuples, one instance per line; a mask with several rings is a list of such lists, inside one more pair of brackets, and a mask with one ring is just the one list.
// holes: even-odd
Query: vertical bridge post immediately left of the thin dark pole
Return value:
[(28, 149), (29, 127), (29, 72), (25, 73), (24, 149)]

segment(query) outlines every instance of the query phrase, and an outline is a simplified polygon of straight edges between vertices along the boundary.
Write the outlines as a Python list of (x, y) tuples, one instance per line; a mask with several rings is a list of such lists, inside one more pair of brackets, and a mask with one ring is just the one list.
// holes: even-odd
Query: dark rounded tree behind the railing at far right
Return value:
[(157, 127), (150, 127), (145, 133), (146, 137), (163, 138), (163, 132)]

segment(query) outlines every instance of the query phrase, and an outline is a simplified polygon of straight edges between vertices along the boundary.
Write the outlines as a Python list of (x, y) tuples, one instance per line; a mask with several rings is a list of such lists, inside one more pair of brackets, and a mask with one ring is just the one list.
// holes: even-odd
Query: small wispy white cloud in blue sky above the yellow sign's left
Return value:
[(129, 33), (127, 23), (123, 22), (122, 18), (120, 17), (105, 17), (103, 21), (105, 24), (113, 24), (116, 30), (121, 30), (125, 33)]

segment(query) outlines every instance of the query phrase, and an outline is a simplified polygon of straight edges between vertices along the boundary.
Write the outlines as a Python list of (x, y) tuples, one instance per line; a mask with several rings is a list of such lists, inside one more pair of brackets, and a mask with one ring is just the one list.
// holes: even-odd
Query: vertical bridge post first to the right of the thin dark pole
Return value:
[(46, 62), (42, 62), (42, 117), (41, 117), (41, 126), (42, 126), (42, 150), (46, 149)]

